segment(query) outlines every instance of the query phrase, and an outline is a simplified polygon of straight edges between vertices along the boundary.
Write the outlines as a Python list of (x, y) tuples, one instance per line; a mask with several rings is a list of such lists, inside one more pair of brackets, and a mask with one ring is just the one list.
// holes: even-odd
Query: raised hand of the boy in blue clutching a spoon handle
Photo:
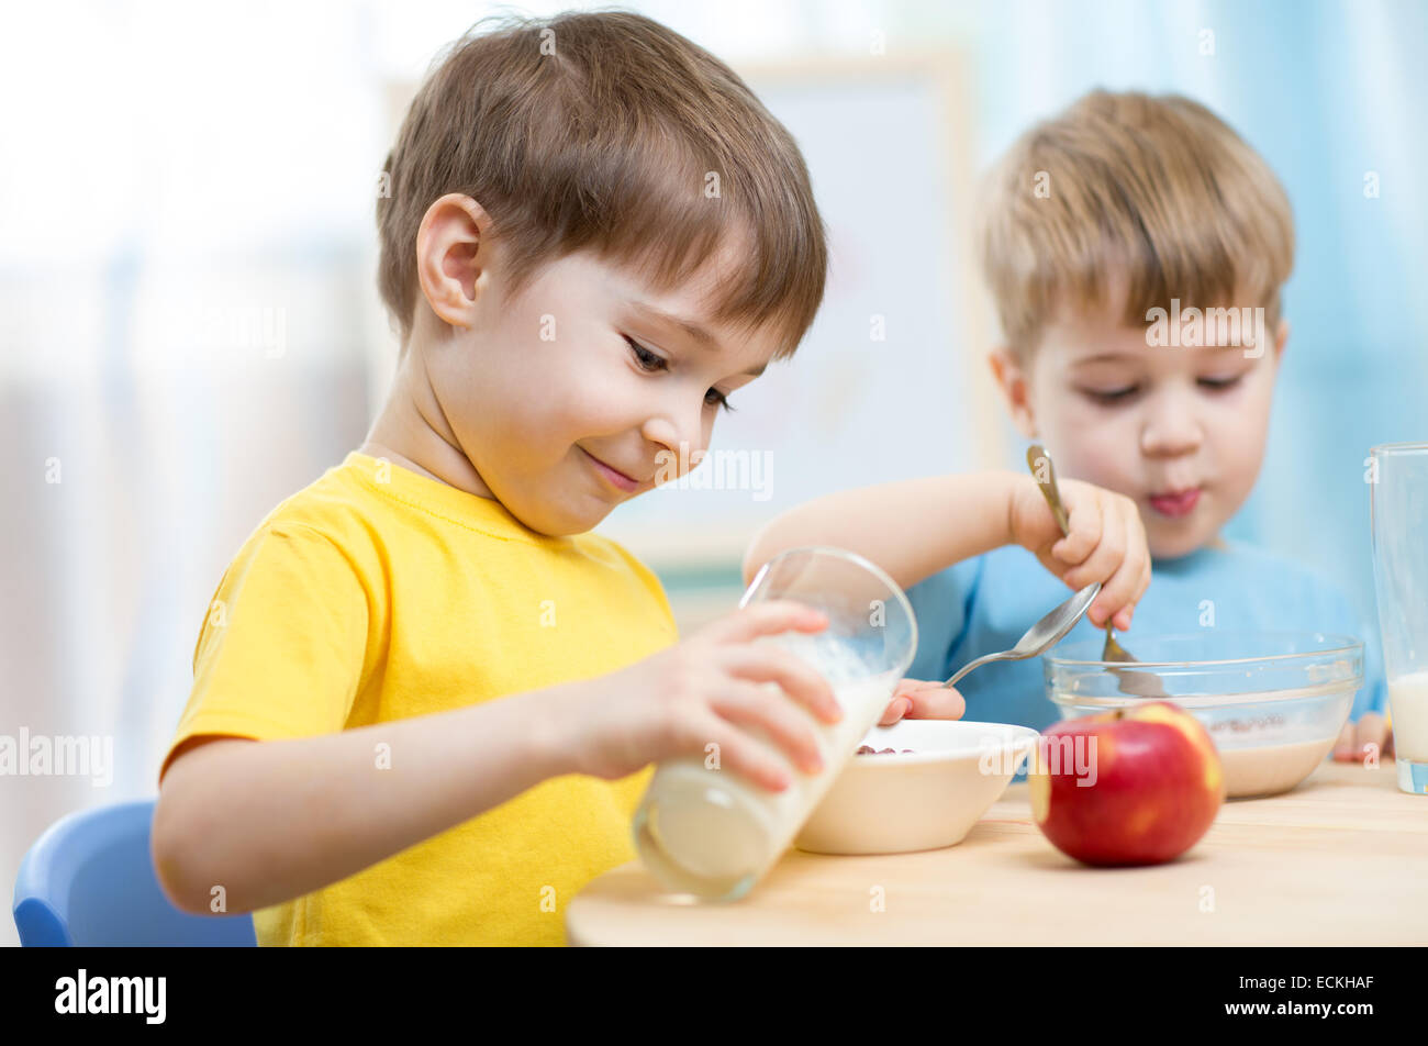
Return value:
[(1098, 629), (1110, 620), (1125, 632), (1135, 603), (1151, 583), (1151, 553), (1135, 502), (1090, 483), (1061, 480), (1070, 533), (1062, 536), (1051, 506), (1030, 476), (1011, 503), (1011, 539), (1072, 589), (1101, 582), (1087, 612)]

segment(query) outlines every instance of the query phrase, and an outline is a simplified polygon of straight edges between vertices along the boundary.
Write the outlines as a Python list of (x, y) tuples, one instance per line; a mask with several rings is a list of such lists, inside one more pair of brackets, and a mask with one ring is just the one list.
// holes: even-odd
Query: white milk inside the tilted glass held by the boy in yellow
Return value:
[[(704, 756), (660, 764), (635, 815), (635, 847), (645, 866), (680, 892), (730, 900), (747, 893), (788, 847), (864, 734), (881, 719), (901, 676), (868, 676), (853, 650), (825, 634), (784, 633), (758, 642), (775, 643), (817, 669), (833, 687), (843, 719), (825, 723), (803, 704), (793, 704), (813, 727), (823, 770), (794, 769), (783, 792), (770, 792), (731, 770), (711, 769)], [(778, 684), (765, 687), (768, 700), (790, 700)]]

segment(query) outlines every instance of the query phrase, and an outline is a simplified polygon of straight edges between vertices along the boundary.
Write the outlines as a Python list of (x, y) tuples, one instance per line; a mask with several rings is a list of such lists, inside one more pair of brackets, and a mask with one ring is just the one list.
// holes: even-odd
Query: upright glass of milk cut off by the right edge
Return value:
[(1398, 787), (1422, 796), (1428, 795), (1428, 443), (1374, 447), (1368, 482)]

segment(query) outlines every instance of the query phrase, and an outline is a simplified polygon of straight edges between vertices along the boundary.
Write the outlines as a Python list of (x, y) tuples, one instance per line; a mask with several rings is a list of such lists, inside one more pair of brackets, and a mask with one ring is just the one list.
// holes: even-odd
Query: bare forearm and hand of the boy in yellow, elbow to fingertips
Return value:
[[(814, 610), (770, 602), (601, 679), (320, 737), (194, 739), (154, 810), (159, 882), (186, 912), (211, 913), (216, 886), (226, 913), (250, 912), (346, 879), (547, 777), (623, 777), (703, 756), (710, 742), (728, 769), (780, 789), (791, 763), (813, 769), (817, 740), (791, 700), (768, 700), (761, 684), (825, 722), (841, 712), (811, 666), (750, 640), (825, 626)], [(378, 744), (390, 746), (390, 769), (378, 769)]]

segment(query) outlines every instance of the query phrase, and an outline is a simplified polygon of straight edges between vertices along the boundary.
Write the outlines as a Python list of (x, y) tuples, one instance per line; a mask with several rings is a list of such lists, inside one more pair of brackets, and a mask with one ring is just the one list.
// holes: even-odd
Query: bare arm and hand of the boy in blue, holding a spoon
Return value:
[(744, 580), (780, 552), (833, 544), (857, 552), (904, 589), (972, 556), (1020, 544), (1072, 589), (1101, 582), (1088, 617), (1128, 629), (1150, 584), (1150, 550), (1135, 503), (1110, 490), (1061, 480), (1071, 533), (1062, 537), (1031, 476), (984, 472), (883, 483), (800, 504), (750, 544)]

